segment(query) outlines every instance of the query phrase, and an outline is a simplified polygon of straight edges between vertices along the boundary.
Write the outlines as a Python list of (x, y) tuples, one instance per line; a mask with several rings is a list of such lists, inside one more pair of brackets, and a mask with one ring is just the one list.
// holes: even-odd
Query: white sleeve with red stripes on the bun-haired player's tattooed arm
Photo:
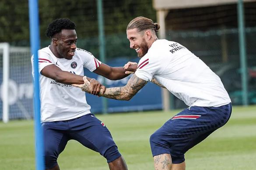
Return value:
[(156, 58), (157, 57), (149, 57), (147, 54), (141, 58), (135, 75), (140, 79), (151, 81), (159, 70), (159, 61)]

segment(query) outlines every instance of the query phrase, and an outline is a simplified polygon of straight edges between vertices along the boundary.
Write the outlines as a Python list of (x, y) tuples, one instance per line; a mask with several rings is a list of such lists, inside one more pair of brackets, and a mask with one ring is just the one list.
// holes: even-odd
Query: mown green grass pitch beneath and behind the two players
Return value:
[[(150, 135), (178, 111), (97, 115), (109, 128), (129, 170), (154, 170)], [(33, 121), (0, 123), (0, 170), (34, 170)], [(108, 170), (98, 153), (70, 141), (61, 170)], [(230, 120), (186, 153), (186, 170), (255, 170), (256, 106), (233, 107)]]

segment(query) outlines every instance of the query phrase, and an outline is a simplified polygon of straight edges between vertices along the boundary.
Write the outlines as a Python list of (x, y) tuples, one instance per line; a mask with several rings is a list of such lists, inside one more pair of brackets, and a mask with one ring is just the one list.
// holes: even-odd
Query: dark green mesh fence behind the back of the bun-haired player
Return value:
[[(256, 28), (246, 28), (249, 104), (256, 104)], [(233, 104), (242, 104), (238, 29), (169, 31), (167, 39), (179, 42), (202, 59), (224, 84)], [(175, 107), (184, 107), (175, 99)]]

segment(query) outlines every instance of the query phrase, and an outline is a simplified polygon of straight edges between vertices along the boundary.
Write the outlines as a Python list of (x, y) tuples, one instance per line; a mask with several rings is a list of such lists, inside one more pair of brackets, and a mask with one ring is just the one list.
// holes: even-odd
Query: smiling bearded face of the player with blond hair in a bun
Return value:
[(146, 34), (144, 31), (138, 32), (137, 28), (126, 30), (127, 39), (130, 41), (130, 48), (135, 49), (139, 58), (145, 56), (148, 51)]

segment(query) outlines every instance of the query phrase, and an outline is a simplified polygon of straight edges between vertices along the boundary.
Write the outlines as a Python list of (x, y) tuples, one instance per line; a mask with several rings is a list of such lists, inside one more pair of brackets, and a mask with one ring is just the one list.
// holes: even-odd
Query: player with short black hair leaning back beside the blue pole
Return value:
[[(108, 128), (90, 112), (84, 93), (71, 84), (84, 83), (84, 68), (111, 80), (128, 75), (123, 67), (110, 67), (90, 52), (78, 49), (75, 28), (69, 19), (52, 21), (46, 31), (51, 44), (38, 52), (46, 169), (60, 170), (57, 158), (67, 142), (74, 139), (104, 156), (110, 170), (127, 170)], [(91, 83), (91, 94), (97, 95), (100, 89), (105, 91), (97, 80), (87, 80)]]

